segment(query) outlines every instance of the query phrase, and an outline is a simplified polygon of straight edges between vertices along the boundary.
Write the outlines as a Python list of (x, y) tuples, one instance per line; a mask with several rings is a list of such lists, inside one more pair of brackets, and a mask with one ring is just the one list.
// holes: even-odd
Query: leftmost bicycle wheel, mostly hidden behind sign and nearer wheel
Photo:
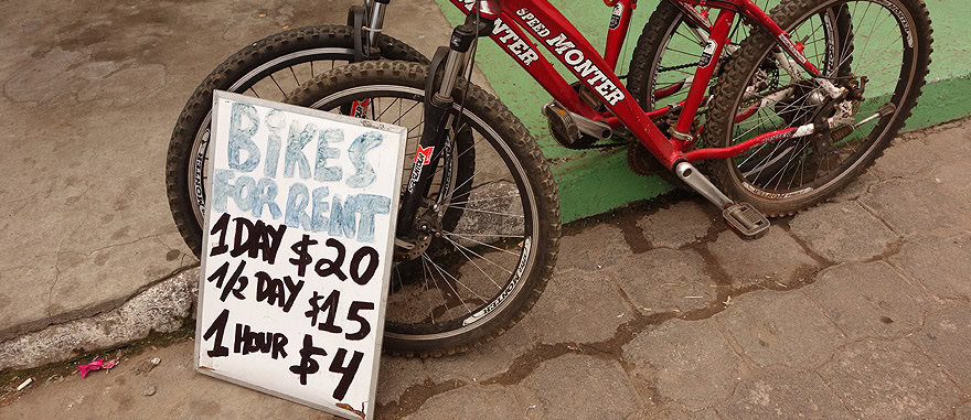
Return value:
[[(231, 55), (195, 88), (169, 141), (166, 187), (175, 225), (196, 257), (202, 249), (213, 90), (284, 100), (303, 82), (353, 60), (352, 34), (350, 26), (322, 25), (267, 36)], [(382, 58), (428, 62), (391, 36), (381, 35), (378, 49)]]

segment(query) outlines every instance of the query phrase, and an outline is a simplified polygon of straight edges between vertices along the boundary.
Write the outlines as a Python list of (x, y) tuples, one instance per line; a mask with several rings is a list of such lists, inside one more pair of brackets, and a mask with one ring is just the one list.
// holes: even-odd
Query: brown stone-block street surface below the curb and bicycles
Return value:
[[(969, 180), (965, 121), (895, 140), (756, 241), (690, 196), (569, 226), (515, 327), (469, 354), (383, 360), (378, 418), (971, 419)], [(194, 374), (192, 345), (87, 379), (8, 375), (0, 418), (328, 418)]]

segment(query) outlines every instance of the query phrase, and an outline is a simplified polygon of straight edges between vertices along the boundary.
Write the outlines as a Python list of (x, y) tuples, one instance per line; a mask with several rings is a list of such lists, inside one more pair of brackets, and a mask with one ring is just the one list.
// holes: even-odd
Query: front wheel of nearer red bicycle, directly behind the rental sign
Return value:
[[(367, 118), (407, 127), (406, 150), (415, 150), (426, 78), (420, 64), (356, 63), (318, 76), (289, 101), (341, 112), (369, 100)], [(384, 341), (393, 353), (440, 356), (498, 336), (536, 302), (556, 258), (556, 183), (535, 140), (478, 86), (460, 80), (454, 98), (463, 134), (444, 148), (419, 212), (433, 234), (395, 252)], [(449, 220), (448, 212), (439, 219), (441, 206), (458, 209), (460, 219)]]

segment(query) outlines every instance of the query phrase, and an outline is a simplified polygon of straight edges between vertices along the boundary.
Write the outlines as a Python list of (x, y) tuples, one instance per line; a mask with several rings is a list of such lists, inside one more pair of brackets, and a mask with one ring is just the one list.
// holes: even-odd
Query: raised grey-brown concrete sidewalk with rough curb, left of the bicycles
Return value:
[[(358, 3), (28, 1), (0, 13), (0, 371), (179, 325), (188, 308), (166, 290), (198, 261), (172, 223), (164, 162), (185, 100), (247, 43), (343, 23)], [(387, 33), (429, 56), (447, 43), (434, 2), (395, 8)], [(141, 299), (151, 304), (122, 308), (158, 284)], [(21, 344), (45, 329), (54, 351)]]

